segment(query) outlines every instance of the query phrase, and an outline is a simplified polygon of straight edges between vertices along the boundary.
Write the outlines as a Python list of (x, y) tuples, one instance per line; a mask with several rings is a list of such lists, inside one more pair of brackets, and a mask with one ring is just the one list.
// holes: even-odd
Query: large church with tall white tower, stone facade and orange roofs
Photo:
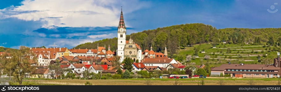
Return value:
[(140, 62), (144, 58), (168, 58), (167, 48), (165, 48), (164, 54), (161, 52), (154, 52), (152, 47), (149, 50), (142, 52), (140, 46), (136, 44), (131, 36), (129, 40), (126, 40), (126, 26), (124, 23), (123, 11), (121, 9), (120, 21), (118, 25), (118, 46), (117, 46), (117, 56), (121, 57), (121, 62), (125, 58), (131, 58), (135, 62), (138, 60)]

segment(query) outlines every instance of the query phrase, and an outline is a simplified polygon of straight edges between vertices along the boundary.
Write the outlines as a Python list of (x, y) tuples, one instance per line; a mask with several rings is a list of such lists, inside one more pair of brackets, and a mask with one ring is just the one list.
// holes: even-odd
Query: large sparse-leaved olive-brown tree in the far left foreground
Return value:
[(36, 66), (31, 66), (30, 60), (37, 61), (36, 56), (30, 49), (21, 46), (19, 50), (9, 49), (7, 52), (10, 53), (11, 58), (4, 59), (4, 71), (9, 75), (13, 76), (19, 85), (22, 85), (23, 78), (26, 74), (31, 73), (35, 70)]

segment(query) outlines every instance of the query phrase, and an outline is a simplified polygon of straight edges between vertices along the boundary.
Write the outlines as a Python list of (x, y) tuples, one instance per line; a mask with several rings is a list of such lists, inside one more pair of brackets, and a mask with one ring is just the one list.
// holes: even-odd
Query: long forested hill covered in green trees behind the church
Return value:
[[(281, 43), (281, 28), (265, 29), (244, 29), (244, 28), (227, 28), (216, 29), (211, 25), (202, 23), (173, 25), (169, 27), (157, 28), (153, 30), (144, 30), (138, 33), (132, 33), (131, 37), (141, 48), (149, 49), (153, 46), (156, 52), (162, 52), (167, 47), (170, 55), (173, 55), (177, 49), (191, 46), (194, 44), (203, 44), (212, 42), (213, 45), (220, 42), (230, 44), (266, 44), (272, 39), (272, 45)], [(128, 40), (130, 35), (126, 36)], [(75, 48), (97, 48), (110, 44), (111, 50), (117, 47), (117, 38), (104, 39), (93, 43), (85, 43)], [(107, 46), (106, 46), (107, 47)]]

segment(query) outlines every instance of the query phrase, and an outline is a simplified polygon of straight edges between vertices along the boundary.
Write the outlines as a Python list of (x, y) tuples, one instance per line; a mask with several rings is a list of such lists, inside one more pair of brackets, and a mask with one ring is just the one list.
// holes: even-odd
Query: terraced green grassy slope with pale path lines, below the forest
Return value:
[[(257, 47), (247, 47), (247, 46), (257, 46)], [(245, 64), (263, 64), (263, 62), (258, 62), (257, 56), (258, 55), (261, 56), (261, 59), (275, 58), (277, 52), (268, 51), (268, 48), (271, 47), (263, 47), (263, 45), (250, 45), (250, 44), (245, 44), (243, 46), (241, 46), (241, 44), (219, 44), (216, 45), (216, 48), (213, 48), (211, 44), (198, 44), (198, 45), (194, 45), (193, 47), (186, 47), (185, 49), (179, 49), (177, 54), (174, 54), (174, 59), (179, 61), (185, 60), (186, 56), (194, 55), (194, 48), (199, 48), (198, 56), (201, 58), (192, 59), (188, 63), (191, 64), (195, 63), (195, 65), (209, 64), (211, 67), (218, 67), (221, 64), (229, 62), (228, 59), (239, 59), (239, 60), (231, 60), (230, 62), (245, 63)], [(231, 52), (227, 52), (227, 48), (230, 48)], [(203, 51), (203, 49), (205, 53), (200, 53)], [(241, 50), (237, 50), (237, 49), (241, 49)], [(260, 50), (260, 51), (253, 52), (252, 50)], [(227, 55), (227, 54), (233, 54), (233, 55)], [(266, 54), (267, 56), (263, 57), (263, 55)], [(202, 59), (206, 55), (209, 55), (210, 58), (219, 58), (219, 59)], [(241, 56), (245, 56), (245, 57), (241, 57)]]

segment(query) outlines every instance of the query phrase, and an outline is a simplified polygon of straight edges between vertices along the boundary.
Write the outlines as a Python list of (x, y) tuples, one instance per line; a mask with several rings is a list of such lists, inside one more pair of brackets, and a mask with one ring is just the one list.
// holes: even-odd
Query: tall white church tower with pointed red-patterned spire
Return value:
[(120, 15), (117, 34), (118, 34), (117, 56), (120, 56), (122, 57), (122, 59), (124, 59), (124, 47), (126, 45), (126, 26), (124, 23), (122, 8), (121, 8), (121, 15)]

